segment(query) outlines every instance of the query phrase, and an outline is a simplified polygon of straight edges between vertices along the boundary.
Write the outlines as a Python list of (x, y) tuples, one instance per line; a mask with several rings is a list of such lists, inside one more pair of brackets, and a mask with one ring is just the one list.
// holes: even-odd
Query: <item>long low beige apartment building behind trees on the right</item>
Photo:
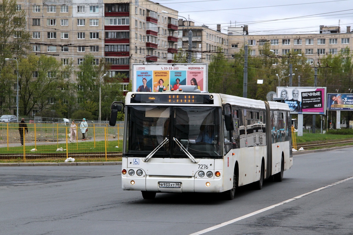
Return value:
[(233, 55), (246, 43), (250, 56), (261, 56), (261, 47), (270, 43), (273, 54), (288, 56), (291, 50), (305, 56), (307, 62), (318, 66), (320, 58), (328, 54), (346, 52), (347, 47), (352, 50), (352, 31), (347, 26), (346, 32), (340, 27), (320, 26), (319, 33), (288, 34), (288, 35), (249, 35), (248, 27), (228, 27), (229, 51)]

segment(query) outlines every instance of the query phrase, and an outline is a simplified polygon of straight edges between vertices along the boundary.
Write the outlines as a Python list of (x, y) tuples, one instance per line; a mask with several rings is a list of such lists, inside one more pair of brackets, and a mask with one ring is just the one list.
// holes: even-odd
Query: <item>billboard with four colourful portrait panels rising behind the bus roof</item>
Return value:
[(192, 64), (133, 64), (132, 91), (161, 92), (179, 89), (179, 85), (194, 85), (207, 91), (208, 67)]

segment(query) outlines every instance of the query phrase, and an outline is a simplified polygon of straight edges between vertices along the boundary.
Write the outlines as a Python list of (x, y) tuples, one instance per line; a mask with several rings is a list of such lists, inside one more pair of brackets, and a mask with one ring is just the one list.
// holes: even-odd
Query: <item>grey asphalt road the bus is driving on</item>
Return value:
[(0, 234), (353, 234), (352, 150), (296, 155), (283, 182), (240, 187), (232, 201), (144, 200), (121, 190), (120, 165), (1, 167)]

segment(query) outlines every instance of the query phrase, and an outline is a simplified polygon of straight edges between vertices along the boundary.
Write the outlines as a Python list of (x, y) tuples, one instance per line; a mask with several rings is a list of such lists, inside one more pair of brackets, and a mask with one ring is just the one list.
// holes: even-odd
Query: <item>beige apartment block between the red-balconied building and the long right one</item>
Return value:
[[(221, 25), (216, 29), (206, 25), (195, 26), (195, 22), (179, 19), (178, 48), (181, 51), (189, 49), (188, 32), (192, 31), (192, 60), (200, 63), (210, 63), (212, 55), (223, 52), (228, 55), (228, 35), (221, 32)], [(187, 55), (186, 55), (187, 56)]]

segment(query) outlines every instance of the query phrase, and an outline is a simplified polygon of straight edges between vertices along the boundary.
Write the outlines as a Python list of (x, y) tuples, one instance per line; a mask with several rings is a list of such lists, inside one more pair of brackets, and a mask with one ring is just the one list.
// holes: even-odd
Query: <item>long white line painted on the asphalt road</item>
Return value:
[(196, 233), (192, 233), (192, 234), (190, 234), (190, 235), (200, 235), (200, 234), (208, 233), (208, 232), (210, 232), (210, 231), (212, 231), (212, 230), (215, 230), (215, 229), (224, 227), (224, 226), (226, 226), (226, 225), (228, 225), (228, 224), (232, 224), (232, 223), (237, 222), (237, 221), (240, 221), (240, 220), (242, 220), (242, 219), (249, 218), (249, 217), (251, 217), (251, 216), (253, 216), (253, 215), (260, 214), (261, 212), (264, 212), (264, 211), (273, 209), (273, 208), (275, 208), (275, 207), (277, 207), (277, 206), (286, 204), (286, 203), (288, 203), (288, 202), (292, 202), (292, 201), (297, 200), (297, 199), (299, 199), (299, 198), (305, 197), (305, 196), (307, 196), (307, 195), (309, 195), (309, 194), (311, 194), (311, 193), (315, 193), (315, 192), (321, 191), (321, 190), (323, 190), (323, 189), (325, 189), (325, 188), (332, 187), (332, 186), (334, 186), (334, 185), (343, 183), (343, 182), (345, 182), (345, 181), (347, 181), (347, 180), (351, 180), (351, 179), (353, 179), (353, 177), (347, 178), (347, 179), (345, 179), (345, 180), (339, 181), (339, 182), (334, 183), (334, 184), (330, 184), (330, 185), (325, 186), (325, 187), (322, 187), (322, 188), (318, 188), (318, 189), (313, 190), (313, 191), (311, 191), (311, 192), (307, 192), (307, 193), (301, 194), (301, 195), (299, 195), (299, 196), (297, 196), (297, 197), (294, 197), (294, 198), (285, 200), (285, 201), (283, 201), (283, 202), (280, 202), (280, 203), (277, 203), (277, 204), (268, 206), (268, 207), (263, 208), (263, 209), (258, 210), (258, 211), (254, 211), (254, 212), (252, 212), (252, 213), (250, 213), (250, 214), (247, 214), (247, 215), (244, 215), (244, 216), (241, 216), (241, 217), (232, 219), (232, 220), (230, 220), (230, 221), (227, 221), (227, 222), (224, 222), (224, 223), (221, 223), (221, 224), (217, 224), (217, 225), (215, 225), (215, 226), (213, 226), (213, 227), (210, 227), (210, 228), (207, 228), (207, 229), (198, 231), (198, 232), (196, 232)]

